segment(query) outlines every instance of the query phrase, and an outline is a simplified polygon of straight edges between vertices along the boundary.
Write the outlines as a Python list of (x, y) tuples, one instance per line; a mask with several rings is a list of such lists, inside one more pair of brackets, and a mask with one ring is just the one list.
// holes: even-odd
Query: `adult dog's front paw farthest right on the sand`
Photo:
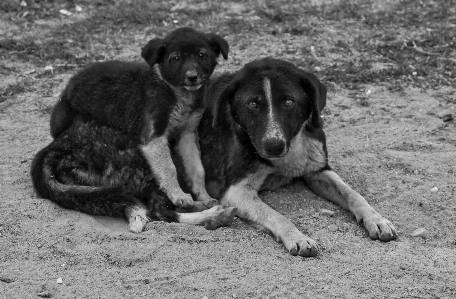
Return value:
[(388, 242), (397, 238), (396, 228), (379, 213), (371, 211), (361, 220), (371, 239)]

